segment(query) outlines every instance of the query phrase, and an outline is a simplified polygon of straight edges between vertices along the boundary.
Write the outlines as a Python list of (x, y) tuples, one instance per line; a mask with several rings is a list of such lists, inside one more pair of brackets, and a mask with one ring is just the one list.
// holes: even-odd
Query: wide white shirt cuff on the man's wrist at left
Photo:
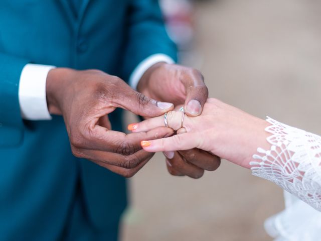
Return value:
[(30, 121), (51, 119), (46, 99), (48, 72), (55, 68), (50, 65), (27, 64), (23, 68), (19, 83), (19, 104), (21, 115)]

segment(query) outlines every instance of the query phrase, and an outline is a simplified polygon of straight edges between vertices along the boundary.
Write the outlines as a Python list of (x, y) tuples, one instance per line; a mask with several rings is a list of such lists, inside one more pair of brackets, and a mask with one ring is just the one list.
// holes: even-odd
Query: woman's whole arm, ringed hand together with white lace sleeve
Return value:
[[(169, 114), (169, 127), (182, 125), (182, 112)], [(138, 124), (136, 131), (164, 126), (164, 116)], [(321, 137), (267, 121), (209, 98), (200, 116), (185, 116), (186, 132), (143, 142), (148, 152), (203, 149), (270, 180), (321, 211)]]

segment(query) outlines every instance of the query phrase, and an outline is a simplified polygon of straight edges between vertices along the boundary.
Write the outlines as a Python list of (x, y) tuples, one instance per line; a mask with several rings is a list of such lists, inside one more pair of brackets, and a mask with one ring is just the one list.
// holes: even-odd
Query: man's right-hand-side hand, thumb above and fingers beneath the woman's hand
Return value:
[[(176, 64), (153, 65), (142, 76), (137, 90), (153, 99), (175, 105), (184, 104), (189, 116), (200, 115), (208, 98), (208, 89), (201, 72)], [(199, 149), (164, 154), (168, 170), (175, 176), (200, 178), (204, 170), (213, 171), (220, 165), (218, 157)]]

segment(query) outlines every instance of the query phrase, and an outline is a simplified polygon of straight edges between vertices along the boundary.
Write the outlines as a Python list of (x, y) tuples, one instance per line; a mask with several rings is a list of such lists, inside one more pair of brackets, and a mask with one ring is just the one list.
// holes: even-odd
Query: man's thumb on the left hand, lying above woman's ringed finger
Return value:
[(143, 117), (154, 117), (164, 114), (174, 109), (174, 104), (168, 102), (156, 101), (142, 93), (139, 93), (128, 86), (123, 95), (120, 95), (117, 103), (118, 107), (127, 109)]

